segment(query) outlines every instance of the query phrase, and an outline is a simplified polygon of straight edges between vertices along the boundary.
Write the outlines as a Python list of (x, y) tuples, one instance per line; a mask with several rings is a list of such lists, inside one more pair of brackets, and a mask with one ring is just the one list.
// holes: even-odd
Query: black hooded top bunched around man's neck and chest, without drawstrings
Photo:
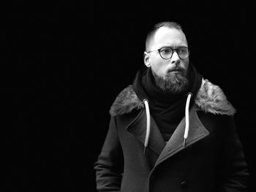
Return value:
[[(165, 140), (170, 138), (176, 126), (184, 117), (187, 101), (187, 93), (192, 93), (190, 105), (194, 103), (197, 91), (200, 88), (202, 77), (192, 64), (188, 69), (189, 88), (186, 93), (172, 94), (159, 89), (154, 82), (151, 68), (145, 68), (137, 72), (133, 82), (133, 88), (138, 98), (148, 99), (151, 115), (156, 120)], [(168, 136), (166, 136), (167, 134)]]

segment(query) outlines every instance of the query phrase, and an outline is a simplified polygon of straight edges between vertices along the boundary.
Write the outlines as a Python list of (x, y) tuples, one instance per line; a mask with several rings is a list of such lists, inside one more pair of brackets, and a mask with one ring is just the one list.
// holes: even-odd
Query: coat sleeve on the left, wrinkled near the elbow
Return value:
[(124, 157), (118, 139), (116, 118), (110, 118), (108, 134), (94, 163), (98, 191), (120, 191)]

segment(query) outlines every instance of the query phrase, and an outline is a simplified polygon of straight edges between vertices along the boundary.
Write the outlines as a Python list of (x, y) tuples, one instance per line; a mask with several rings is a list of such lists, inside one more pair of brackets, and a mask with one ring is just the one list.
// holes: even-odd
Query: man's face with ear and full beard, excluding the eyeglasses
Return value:
[[(149, 51), (158, 50), (162, 47), (171, 47), (172, 49), (188, 47), (185, 34), (176, 28), (159, 28), (151, 42)], [(144, 63), (151, 67), (156, 84), (163, 91), (181, 93), (187, 90), (189, 58), (181, 59), (174, 51), (171, 58), (166, 60), (159, 55), (158, 51), (153, 51), (145, 53)]]

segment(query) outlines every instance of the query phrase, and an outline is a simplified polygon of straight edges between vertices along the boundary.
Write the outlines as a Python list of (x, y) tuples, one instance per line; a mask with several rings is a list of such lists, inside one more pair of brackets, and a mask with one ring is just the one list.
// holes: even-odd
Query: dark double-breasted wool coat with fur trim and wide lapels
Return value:
[(110, 109), (110, 128), (94, 164), (98, 191), (246, 191), (248, 172), (233, 115), (222, 90), (203, 80), (189, 110), (165, 143), (154, 118), (146, 153), (146, 111), (132, 85)]

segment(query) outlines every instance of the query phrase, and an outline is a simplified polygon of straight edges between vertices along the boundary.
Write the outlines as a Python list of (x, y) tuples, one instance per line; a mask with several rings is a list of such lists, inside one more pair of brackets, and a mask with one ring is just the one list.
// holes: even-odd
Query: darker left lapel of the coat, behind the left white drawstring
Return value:
[[(154, 118), (151, 117), (151, 131), (148, 140), (148, 149), (154, 150), (158, 155), (165, 147), (165, 140), (157, 127)], [(127, 131), (131, 132), (143, 145), (146, 137), (146, 111), (140, 110), (137, 117), (132, 120), (128, 126)]]

